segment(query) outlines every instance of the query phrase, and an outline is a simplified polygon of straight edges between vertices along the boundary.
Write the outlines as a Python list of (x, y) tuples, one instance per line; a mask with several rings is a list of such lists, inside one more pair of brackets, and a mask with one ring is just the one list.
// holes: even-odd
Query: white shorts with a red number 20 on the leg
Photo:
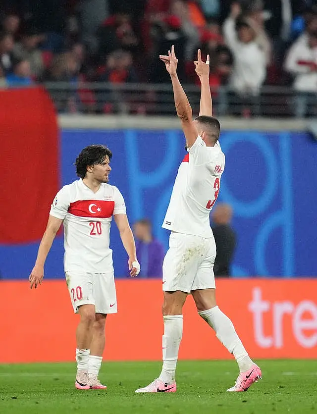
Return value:
[(74, 312), (81, 305), (95, 305), (96, 313), (116, 313), (117, 298), (114, 274), (65, 272)]

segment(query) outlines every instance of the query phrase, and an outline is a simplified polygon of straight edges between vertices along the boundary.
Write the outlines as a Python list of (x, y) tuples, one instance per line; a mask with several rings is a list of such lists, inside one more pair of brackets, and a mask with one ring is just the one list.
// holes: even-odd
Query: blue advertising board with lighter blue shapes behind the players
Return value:
[[(317, 142), (304, 132), (224, 131), (226, 155), (218, 200), (234, 210), (238, 245), (233, 275), (317, 276)], [(148, 217), (167, 249), (161, 223), (184, 150), (177, 130), (63, 130), (62, 185), (77, 179), (74, 161), (89, 144), (113, 153), (110, 184), (123, 194), (130, 223)], [(0, 246), (1, 277), (24, 279), (34, 265), (37, 243)], [(127, 256), (113, 222), (110, 235), (116, 277), (127, 274)], [(47, 278), (63, 277), (63, 241), (53, 243)]]

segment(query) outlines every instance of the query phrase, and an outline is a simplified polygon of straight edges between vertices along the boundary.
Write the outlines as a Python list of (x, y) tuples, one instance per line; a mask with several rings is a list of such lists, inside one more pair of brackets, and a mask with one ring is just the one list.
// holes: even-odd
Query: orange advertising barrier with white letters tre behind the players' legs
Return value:
[[(118, 280), (118, 313), (106, 323), (105, 359), (160, 360), (160, 280)], [(73, 361), (78, 316), (65, 281), (1, 281), (0, 362)], [(235, 324), (250, 355), (317, 358), (317, 279), (220, 279), (217, 301)], [(180, 359), (229, 359), (191, 298), (184, 309)]]

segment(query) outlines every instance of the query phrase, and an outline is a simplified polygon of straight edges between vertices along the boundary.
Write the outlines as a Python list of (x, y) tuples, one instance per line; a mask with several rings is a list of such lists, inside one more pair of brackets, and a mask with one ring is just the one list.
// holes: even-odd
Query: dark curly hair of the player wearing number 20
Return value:
[(76, 174), (78, 177), (85, 178), (87, 167), (90, 165), (101, 164), (106, 156), (111, 159), (112, 153), (105, 145), (89, 145), (85, 147), (76, 158)]

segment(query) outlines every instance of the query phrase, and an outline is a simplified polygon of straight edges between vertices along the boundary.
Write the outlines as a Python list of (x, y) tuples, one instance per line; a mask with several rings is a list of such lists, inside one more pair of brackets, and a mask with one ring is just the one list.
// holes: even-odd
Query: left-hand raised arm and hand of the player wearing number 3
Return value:
[(174, 102), (177, 112), (177, 116), (181, 121), (182, 130), (184, 131), (186, 143), (189, 148), (191, 148), (197, 138), (197, 129), (193, 122), (193, 111), (188, 102), (187, 96), (182, 88), (181, 83), (179, 82), (176, 69), (177, 69), (177, 58), (174, 51), (174, 46), (171, 48), (171, 52), (168, 51), (168, 55), (159, 55), (159, 58), (165, 63), (166, 70), (170, 75), (173, 93), (174, 93)]

